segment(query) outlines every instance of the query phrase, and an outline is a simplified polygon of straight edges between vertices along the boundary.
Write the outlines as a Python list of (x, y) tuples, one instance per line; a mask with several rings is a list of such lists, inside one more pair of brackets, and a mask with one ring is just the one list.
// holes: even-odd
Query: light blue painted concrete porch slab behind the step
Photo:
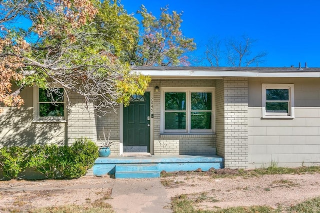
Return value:
[(108, 157), (97, 158), (93, 166), (93, 175), (113, 175), (117, 164), (157, 164), (159, 172), (193, 171), (201, 168), (223, 168), (224, 159), (220, 156), (151, 156), (151, 157)]

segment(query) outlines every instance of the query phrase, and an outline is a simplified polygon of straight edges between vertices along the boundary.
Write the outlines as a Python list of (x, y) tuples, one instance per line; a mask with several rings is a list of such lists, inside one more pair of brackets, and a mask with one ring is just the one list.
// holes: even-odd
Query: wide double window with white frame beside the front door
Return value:
[(213, 88), (162, 88), (161, 132), (212, 132)]

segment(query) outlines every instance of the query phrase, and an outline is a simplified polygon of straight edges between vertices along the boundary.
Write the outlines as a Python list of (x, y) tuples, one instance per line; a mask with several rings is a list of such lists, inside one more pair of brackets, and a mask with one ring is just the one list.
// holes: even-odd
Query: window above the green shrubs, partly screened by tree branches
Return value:
[(33, 117), (36, 121), (64, 121), (65, 103), (63, 88), (54, 91), (34, 87)]

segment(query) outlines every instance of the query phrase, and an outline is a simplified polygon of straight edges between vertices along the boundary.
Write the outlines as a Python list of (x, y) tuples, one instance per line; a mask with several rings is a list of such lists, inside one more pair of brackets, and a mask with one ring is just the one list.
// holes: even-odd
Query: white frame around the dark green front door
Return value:
[[(154, 141), (153, 141), (153, 118), (154, 117), (154, 97), (153, 97), (153, 87), (147, 87), (145, 92), (150, 92), (150, 154), (154, 154)], [(123, 104), (120, 104), (120, 143), (119, 143), (119, 155), (123, 154)]]

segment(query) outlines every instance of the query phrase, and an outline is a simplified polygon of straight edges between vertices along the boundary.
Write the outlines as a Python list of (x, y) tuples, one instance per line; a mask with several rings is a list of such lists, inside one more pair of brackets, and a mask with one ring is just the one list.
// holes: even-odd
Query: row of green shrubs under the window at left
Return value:
[(6, 178), (19, 179), (19, 173), (34, 168), (49, 179), (79, 178), (93, 166), (98, 147), (87, 138), (71, 146), (31, 145), (0, 149), (0, 167)]

